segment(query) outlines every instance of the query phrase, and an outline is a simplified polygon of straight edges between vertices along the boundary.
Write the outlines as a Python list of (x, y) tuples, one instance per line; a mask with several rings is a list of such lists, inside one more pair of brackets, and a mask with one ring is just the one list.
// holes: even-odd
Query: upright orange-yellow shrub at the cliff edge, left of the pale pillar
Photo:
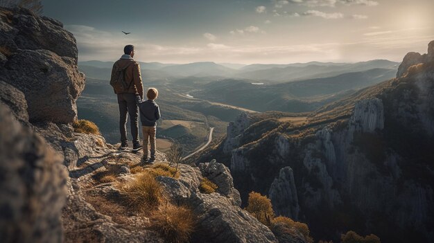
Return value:
[(256, 217), (259, 222), (266, 226), (271, 225), (271, 220), (275, 217), (272, 210), (271, 201), (266, 196), (258, 192), (250, 192), (248, 206), (245, 208), (249, 213)]

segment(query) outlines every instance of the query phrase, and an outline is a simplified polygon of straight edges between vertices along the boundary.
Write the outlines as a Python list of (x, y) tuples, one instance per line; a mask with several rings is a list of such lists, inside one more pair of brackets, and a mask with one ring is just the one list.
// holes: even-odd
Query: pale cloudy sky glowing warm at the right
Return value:
[[(434, 40), (434, 0), (42, 0), (78, 60), (401, 62)], [(124, 35), (121, 31), (130, 32)]]

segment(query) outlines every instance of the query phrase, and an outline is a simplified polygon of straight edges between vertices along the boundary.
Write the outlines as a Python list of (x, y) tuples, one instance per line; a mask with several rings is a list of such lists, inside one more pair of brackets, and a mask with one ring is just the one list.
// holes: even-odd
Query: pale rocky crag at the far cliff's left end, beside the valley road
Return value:
[(227, 137), (223, 146), (223, 153), (229, 154), (234, 148), (239, 146), (240, 135), (250, 125), (250, 119), (247, 113), (239, 114), (235, 121), (227, 126)]

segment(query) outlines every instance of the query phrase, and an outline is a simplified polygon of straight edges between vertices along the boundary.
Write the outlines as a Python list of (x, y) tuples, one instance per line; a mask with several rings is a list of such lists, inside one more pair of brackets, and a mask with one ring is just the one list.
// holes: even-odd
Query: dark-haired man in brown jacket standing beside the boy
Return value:
[(137, 107), (137, 100), (143, 99), (143, 84), (141, 82), (140, 66), (135, 62), (134, 46), (127, 45), (123, 48), (124, 55), (121, 59), (113, 64), (112, 79), (119, 69), (125, 70), (123, 73), (125, 78), (126, 87), (114, 87), (114, 93), (117, 94), (119, 104), (119, 129), (121, 131), (121, 147), (119, 150), (128, 148), (127, 139), (127, 115), (130, 114), (130, 125), (132, 135), (132, 151), (137, 152), (141, 150), (142, 146), (139, 141), (139, 109)]

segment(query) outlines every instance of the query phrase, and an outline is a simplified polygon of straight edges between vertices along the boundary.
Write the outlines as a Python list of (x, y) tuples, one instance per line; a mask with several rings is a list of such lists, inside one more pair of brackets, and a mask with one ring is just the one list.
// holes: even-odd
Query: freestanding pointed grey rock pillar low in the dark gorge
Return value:
[(300, 205), (292, 168), (289, 166), (281, 168), (279, 177), (272, 182), (268, 195), (276, 215), (286, 215), (298, 220)]

